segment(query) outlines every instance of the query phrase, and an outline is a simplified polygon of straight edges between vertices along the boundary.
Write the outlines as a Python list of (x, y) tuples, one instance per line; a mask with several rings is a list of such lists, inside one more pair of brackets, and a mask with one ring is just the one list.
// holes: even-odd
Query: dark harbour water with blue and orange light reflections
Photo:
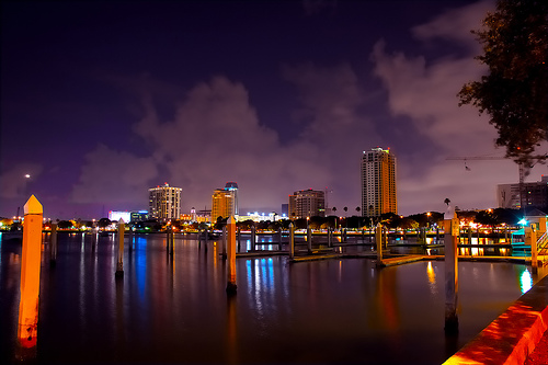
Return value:
[[(227, 297), (218, 244), (178, 236), (169, 256), (163, 235), (133, 240), (116, 280), (114, 237), (95, 246), (59, 235), (55, 267), (45, 238), (38, 363), (439, 364), (546, 274), (459, 263), (459, 334), (446, 338), (443, 261), (378, 270), (367, 259), (240, 258), (238, 293)], [(21, 247), (0, 244), (5, 363), (16, 347)]]

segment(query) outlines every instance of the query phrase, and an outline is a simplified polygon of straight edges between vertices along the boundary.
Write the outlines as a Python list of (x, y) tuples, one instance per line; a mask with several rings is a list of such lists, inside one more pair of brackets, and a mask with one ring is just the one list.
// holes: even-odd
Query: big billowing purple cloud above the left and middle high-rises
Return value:
[(214, 189), (236, 181), (241, 207), (279, 209), (288, 194), (329, 176), (316, 146), (281, 145), (277, 133), (260, 123), (244, 85), (226, 77), (192, 88), (171, 121), (160, 121), (151, 99), (144, 100), (147, 114), (135, 132), (183, 189), (184, 206), (210, 206)]

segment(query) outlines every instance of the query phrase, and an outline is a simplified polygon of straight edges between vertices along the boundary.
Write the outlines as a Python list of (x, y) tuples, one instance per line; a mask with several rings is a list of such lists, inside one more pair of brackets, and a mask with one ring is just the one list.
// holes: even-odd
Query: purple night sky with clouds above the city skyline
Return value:
[[(494, 1), (2, 1), (0, 216), (182, 212), (239, 184), (240, 213), (332, 191), (361, 205), (362, 151), (398, 158), (399, 214), (495, 207), (517, 182), (460, 87), (486, 72), (470, 30)], [(527, 181), (538, 181), (546, 166)], [(30, 179), (24, 175), (28, 173)]]

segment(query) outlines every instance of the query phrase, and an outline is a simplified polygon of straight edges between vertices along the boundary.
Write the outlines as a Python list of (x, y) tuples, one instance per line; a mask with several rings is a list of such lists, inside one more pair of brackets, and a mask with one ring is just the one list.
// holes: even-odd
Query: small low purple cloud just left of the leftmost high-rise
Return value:
[[(71, 192), (72, 203), (109, 203), (139, 208), (158, 169), (152, 158), (136, 157), (99, 145), (85, 156), (80, 180)], [(110, 207), (112, 208), (112, 207)]]

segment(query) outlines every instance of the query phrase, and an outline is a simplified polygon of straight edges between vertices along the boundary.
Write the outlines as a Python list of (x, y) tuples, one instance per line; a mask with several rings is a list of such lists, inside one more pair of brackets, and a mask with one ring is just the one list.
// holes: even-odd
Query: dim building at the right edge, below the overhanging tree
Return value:
[[(523, 184), (523, 207), (546, 209), (548, 207), (548, 176), (541, 181)], [(500, 208), (520, 209), (520, 184), (496, 185), (496, 201)]]

